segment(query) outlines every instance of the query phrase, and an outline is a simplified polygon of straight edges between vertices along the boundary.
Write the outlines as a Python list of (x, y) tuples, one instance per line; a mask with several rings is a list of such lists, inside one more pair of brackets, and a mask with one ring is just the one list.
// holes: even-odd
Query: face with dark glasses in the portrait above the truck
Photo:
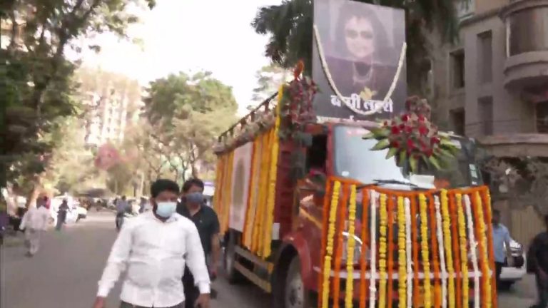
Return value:
[(345, 42), (348, 51), (357, 59), (370, 57), (375, 50), (374, 34), (368, 19), (352, 17), (345, 24)]

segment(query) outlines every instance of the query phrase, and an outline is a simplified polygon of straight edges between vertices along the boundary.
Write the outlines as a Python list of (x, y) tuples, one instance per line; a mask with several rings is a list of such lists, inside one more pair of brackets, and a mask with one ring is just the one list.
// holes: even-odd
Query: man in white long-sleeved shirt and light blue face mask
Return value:
[(151, 185), (153, 209), (123, 225), (98, 283), (93, 308), (105, 307), (108, 292), (124, 270), (121, 308), (182, 308), (186, 264), (200, 289), (195, 307), (209, 308), (210, 279), (200, 236), (191, 220), (176, 213), (178, 194), (179, 187), (171, 180)]

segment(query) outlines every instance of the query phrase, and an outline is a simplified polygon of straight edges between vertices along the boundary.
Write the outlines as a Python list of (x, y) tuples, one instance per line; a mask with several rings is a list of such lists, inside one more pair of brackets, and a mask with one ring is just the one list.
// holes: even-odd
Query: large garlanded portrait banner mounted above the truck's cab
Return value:
[[(314, 99), (318, 117), (376, 120), (404, 109), (405, 59), (395, 79), (405, 43), (403, 10), (352, 0), (315, 0), (314, 24), (320, 37), (315, 37), (313, 46), (313, 79), (320, 88)], [(343, 101), (331, 88), (325, 69)], [(395, 89), (382, 105), (393, 81)], [(379, 111), (364, 116), (352, 109)]]

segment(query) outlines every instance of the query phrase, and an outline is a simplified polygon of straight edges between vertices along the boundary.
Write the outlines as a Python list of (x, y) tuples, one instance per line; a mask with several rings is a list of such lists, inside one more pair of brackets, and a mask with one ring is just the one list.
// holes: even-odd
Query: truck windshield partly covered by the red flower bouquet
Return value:
[[(371, 150), (377, 140), (364, 140), (365, 128), (335, 127), (335, 173), (369, 184), (377, 181), (409, 183), (394, 158), (386, 158), (388, 150)], [(474, 160), (473, 143), (465, 138), (452, 139), (460, 153), (450, 160), (447, 170), (422, 168), (417, 175), (428, 175), (437, 188), (482, 185), (480, 171)], [(440, 184), (441, 183), (441, 184)], [(440, 187), (441, 185), (441, 187)]]

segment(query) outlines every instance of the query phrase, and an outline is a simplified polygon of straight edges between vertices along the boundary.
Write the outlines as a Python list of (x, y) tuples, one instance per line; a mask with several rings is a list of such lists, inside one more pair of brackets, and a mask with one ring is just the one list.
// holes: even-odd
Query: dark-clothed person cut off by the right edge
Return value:
[(534, 272), (539, 294), (539, 302), (531, 308), (546, 308), (548, 304), (548, 215), (544, 215), (544, 225), (546, 230), (534, 237), (527, 255), (527, 270)]

